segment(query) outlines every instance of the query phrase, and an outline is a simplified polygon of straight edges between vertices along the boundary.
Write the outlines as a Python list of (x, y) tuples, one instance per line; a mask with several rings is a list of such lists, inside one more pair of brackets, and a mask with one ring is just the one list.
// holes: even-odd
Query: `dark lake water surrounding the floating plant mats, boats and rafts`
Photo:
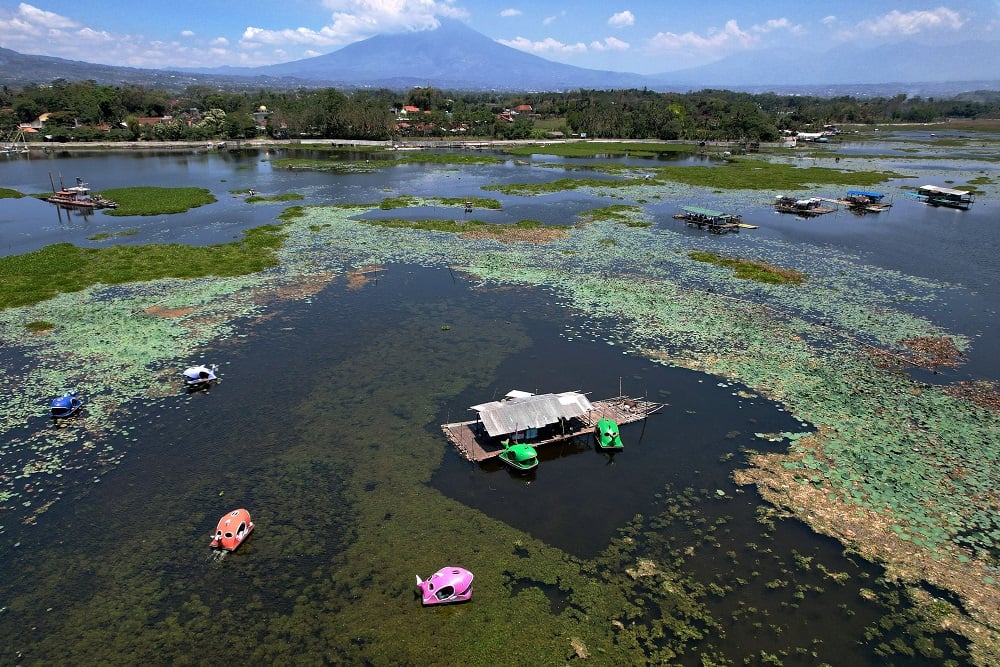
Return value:
[[(98, 247), (108, 241), (91, 240), (95, 234), (124, 231), (130, 235), (114, 243), (226, 243), (274, 222), (284, 209), (248, 204), (243, 193), (250, 188), (264, 196), (301, 193), (296, 203), (308, 206), (370, 205), (402, 194), (493, 196), (480, 188), (576, 173), (564, 169), (571, 161), (541, 155), (350, 175), (270, 164), (303, 153), (5, 158), (0, 184), (24, 193), (48, 190), (50, 177), (79, 176), (96, 191), (196, 186), (218, 201), (180, 215), (135, 218), (67, 215), (29, 198), (0, 200), (0, 248), (11, 255), (57, 242)], [(692, 160), (677, 158), (681, 164), (702, 158)], [(626, 162), (644, 168), (638, 158)], [(932, 168), (914, 160), (909, 169), (936, 183), (950, 169), (982, 172), (996, 189), (995, 162), (942, 160)], [(444, 238), (375, 247), (376, 232), (341, 231), (337, 220), (317, 218), (292, 239), (296, 261), (309, 267), (297, 269), (308, 279), (297, 279), (294, 296), (279, 289), (281, 296), (258, 294), (243, 310), (213, 306), (206, 317), (217, 320), (212, 331), (221, 333), (207, 340), (193, 324), (190, 340), (156, 334), (143, 350), (162, 341), (178, 350), (151, 357), (145, 370), (156, 381), (144, 385), (139, 372), (128, 375), (138, 378), (134, 389), (108, 382), (101, 398), (109, 400), (95, 400), (81, 423), (53, 429), (46, 395), (24, 399), (38, 405), (37, 416), (6, 423), (0, 661), (967, 660), (964, 638), (921, 615), (925, 600), (882, 578), (880, 567), (838, 541), (776, 511), (752, 486), (734, 484), (732, 473), (750, 452), (783, 452), (789, 434), (811, 433), (814, 424), (753, 387), (650, 355), (657, 333), (645, 330), (641, 318), (604, 310), (597, 301), (587, 307), (569, 295), (571, 284), (595, 273), (621, 280), (622, 289), (631, 289), (633, 276), (658, 281), (676, 271), (664, 258), (688, 248), (762, 256), (829, 280), (829, 303), (810, 312), (815, 304), (773, 288), (721, 286), (714, 274), (687, 269), (670, 275), (686, 290), (704, 290), (706, 305), (710, 292), (724, 290), (727, 298), (833, 328), (851, 323), (855, 306), (872, 306), (887, 322), (927, 321), (970, 346), (957, 368), (914, 371), (921, 382), (998, 381), (995, 194), (980, 196), (969, 211), (953, 211), (907, 197), (901, 186), (912, 184), (886, 184), (888, 212), (839, 211), (809, 220), (775, 213), (769, 204), (779, 193), (643, 191), (652, 226), (635, 232), (642, 236), (600, 225), (578, 233), (594, 235), (589, 248), (603, 241), (628, 251), (607, 265), (583, 242), (560, 253), (484, 246), (478, 255), (455, 254), (458, 246)], [(501, 210), (471, 217), (572, 224), (609, 203), (590, 189), (497, 198)], [(682, 205), (736, 210), (758, 228), (707, 235), (672, 218)], [(434, 206), (388, 213), (464, 215)], [(362, 217), (384, 215), (376, 208)], [(330, 236), (309, 238), (324, 225)], [(526, 273), (496, 279), (491, 262), (521, 264)], [(580, 273), (544, 280), (531, 273), (565, 265), (579, 268), (560, 270)], [(340, 267), (365, 270), (348, 276)], [(233, 283), (227, 298), (256, 288)], [(98, 294), (109, 309), (120, 301), (134, 310), (133, 300), (167, 299), (168, 289), (172, 283)], [(211, 291), (185, 298), (221, 301)], [(132, 322), (145, 336), (145, 320)], [(866, 326), (880, 331), (878, 322)], [(707, 335), (699, 330), (659, 345), (680, 359), (682, 348)], [(58, 353), (22, 338), (0, 347), (8, 396), (18, 378), (29, 387), (34, 376), (84, 382), (85, 366), (64, 373)], [(99, 357), (108, 353), (93, 349), (86, 363), (104, 372)], [(162, 379), (193, 360), (219, 363), (222, 382), (188, 394)], [(541, 450), (537, 472), (520, 476), (495, 463), (465, 461), (438, 426), (470, 418), (469, 406), (511, 389), (581, 390), (591, 399), (623, 392), (666, 405), (622, 428), (619, 454), (596, 451), (589, 438), (574, 440)], [(257, 528), (240, 549), (212, 560), (209, 533), (235, 507), (250, 509)], [(444, 565), (474, 571), (475, 597), (421, 609), (413, 575), (426, 578)], [(932, 592), (953, 599), (948, 591)]]

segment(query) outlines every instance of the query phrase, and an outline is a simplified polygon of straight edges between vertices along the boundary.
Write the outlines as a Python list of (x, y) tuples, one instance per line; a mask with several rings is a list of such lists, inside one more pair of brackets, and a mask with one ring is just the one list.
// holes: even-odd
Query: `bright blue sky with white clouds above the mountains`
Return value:
[(0, 0), (0, 46), (129, 67), (256, 66), (426, 30), (443, 17), (549, 60), (640, 74), (775, 47), (1000, 47), (1000, 0)]

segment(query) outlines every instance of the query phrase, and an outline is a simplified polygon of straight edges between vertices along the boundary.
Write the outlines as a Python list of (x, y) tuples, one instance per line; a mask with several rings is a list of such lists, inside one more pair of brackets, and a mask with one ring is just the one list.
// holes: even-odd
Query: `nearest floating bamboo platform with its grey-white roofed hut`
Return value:
[[(544, 447), (592, 434), (599, 419), (612, 419), (619, 425), (629, 424), (645, 419), (665, 405), (629, 396), (616, 396), (591, 403), (586, 396), (577, 392), (511, 394), (515, 395), (511, 400), (472, 406), (472, 410), (479, 412), (478, 419), (441, 424), (441, 430), (455, 445), (459, 454), (469, 461), (487, 461), (503, 452), (502, 443), (507, 438), (526, 442), (533, 447)], [(546, 404), (549, 408), (555, 406), (555, 412), (543, 416)], [(565, 410), (561, 410), (560, 405)], [(500, 414), (502, 412), (507, 412), (508, 415)], [(562, 412), (562, 415), (556, 415), (558, 412)], [(533, 418), (536, 420), (534, 423), (544, 425), (528, 429), (523, 426), (504, 426), (503, 421), (509, 418)]]

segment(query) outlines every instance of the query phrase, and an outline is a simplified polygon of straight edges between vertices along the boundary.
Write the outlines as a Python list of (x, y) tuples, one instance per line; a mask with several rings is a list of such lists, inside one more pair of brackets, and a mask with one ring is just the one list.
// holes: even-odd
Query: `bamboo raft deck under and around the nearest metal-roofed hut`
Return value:
[[(600, 419), (612, 419), (619, 426), (645, 419), (653, 414), (664, 403), (653, 403), (638, 398), (628, 396), (616, 396), (602, 401), (592, 403), (594, 409), (587, 414), (570, 420), (569, 428), (561, 433), (531, 440), (528, 444), (533, 447), (543, 447), (557, 442), (565, 442), (577, 436), (593, 433), (594, 427)], [(499, 443), (491, 442), (491, 438), (486, 434), (485, 429), (479, 420), (453, 422), (451, 424), (441, 424), (448, 440), (455, 445), (458, 453), (469, 461), (481, 462), (495, 458), (503, 451), (503, 446)]]

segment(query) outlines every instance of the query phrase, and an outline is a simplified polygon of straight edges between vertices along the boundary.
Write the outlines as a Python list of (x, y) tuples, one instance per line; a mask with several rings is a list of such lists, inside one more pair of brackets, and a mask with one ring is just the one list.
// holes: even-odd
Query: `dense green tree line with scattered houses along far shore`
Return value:
[[(510, 113), (530, 106), (530, 112)], [(416, 107), (419, 112), (402, 110)], [(135, 85), (58, 79), (0, 90), (0, 135), (49, 114), (56, 141), (239, 139), (259, 136), (254, 113), (266, 110), (272, 138), (391, 140), (404, 136), (541, 138), (561, 132), (618, 139), (775, 141), (781, 131), (845, 123), (933, 122), (998, 118), (1000, 92), (935, 99), (907, 95), (857, 98), (751, 94), (728, 90), (660, 93), (576, 90), (553, 93), (408, 92), (334, 88), (225, 91), (190, 86), (171, 93)], [(144, 118), (162, 119), (157, 123)]]

